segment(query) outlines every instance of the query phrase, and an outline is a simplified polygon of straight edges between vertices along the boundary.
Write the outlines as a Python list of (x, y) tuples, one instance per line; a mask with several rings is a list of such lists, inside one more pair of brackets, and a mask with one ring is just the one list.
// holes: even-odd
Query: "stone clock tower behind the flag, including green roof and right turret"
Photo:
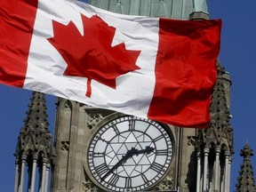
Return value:
[[(205, 0), (89, 0), (89, 4), (123, 14), (209, 18)], [(212, 122), (206, 130), (161, 124), (59, 98), (52, 192), (229, 191), (231, 83), (220, 62), (217, 67)]]

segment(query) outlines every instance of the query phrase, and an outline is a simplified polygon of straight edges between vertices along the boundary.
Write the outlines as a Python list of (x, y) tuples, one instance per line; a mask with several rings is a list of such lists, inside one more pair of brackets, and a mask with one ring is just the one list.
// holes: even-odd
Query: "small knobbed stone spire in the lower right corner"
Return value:
[(244, 156), (243, 164), (237, 178), (236, 192), (244, 191), (256, 191), (255, 180), (251, 164), (251, 156), (253, 156), (253, 150), (249, 144), (244, 145), (244, 149), (241, 150), (240, 156)]

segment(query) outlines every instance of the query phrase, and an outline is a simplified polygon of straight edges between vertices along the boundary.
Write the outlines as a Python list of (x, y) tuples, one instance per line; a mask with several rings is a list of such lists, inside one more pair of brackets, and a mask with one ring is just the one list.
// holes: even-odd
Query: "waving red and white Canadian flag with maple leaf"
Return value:
[(220, 20), (1, 0), (0, 83), (184, 127), (207, 127)]

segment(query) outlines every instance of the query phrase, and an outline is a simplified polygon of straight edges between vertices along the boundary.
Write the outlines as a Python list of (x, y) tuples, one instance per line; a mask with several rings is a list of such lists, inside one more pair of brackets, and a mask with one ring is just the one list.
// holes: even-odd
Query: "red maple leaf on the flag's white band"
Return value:
[(116, 89), (116, 77), (140, 69), (135, 65), (140, 51), (126, 50), (124, 43), (112, 47), (116, 28), (97, 15), (87, 18), (81, 14), (81, 18), (84, 36), (72, 21), (63, 25), (52, 20), (54, 36), (48, 41), (68, 64), (64, 76), (88, 78), (85, 95), (91, 97), (92, 79)]

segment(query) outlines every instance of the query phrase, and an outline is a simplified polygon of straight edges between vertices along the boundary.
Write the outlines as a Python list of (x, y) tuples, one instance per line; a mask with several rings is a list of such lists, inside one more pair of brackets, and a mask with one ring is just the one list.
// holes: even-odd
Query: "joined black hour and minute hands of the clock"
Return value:
[(105, 180), (111, 172), (114, 172), (114, 170), (116, 170), (117, 167), (119, 167), (121, 164), (124, 164), (128, 158), (134, 155), (138, 156), (139, 154), (144, 154), (144, 153), (150, 154), (154, 150), (155, 148), (151, 148), (149, 146), (141, 150), (138, 150), (137, 148), (131, 148), (126, 152), (125, 156), (122, 156), (122, 158), (100, 180), (101, 181)]

